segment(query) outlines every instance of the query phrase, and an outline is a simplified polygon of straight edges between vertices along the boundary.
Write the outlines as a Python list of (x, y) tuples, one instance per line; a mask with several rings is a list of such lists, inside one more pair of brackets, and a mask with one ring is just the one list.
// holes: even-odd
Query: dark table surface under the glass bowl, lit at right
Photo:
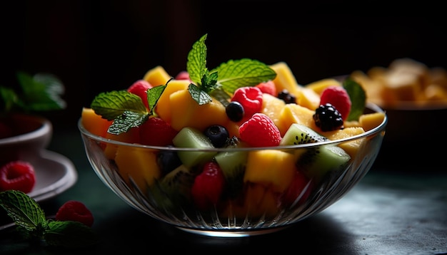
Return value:
[[(447, 171), (439, 163), (389, 167), (379, 154), (366, 177), (320, 214), (271, 234), (219, 239), (170, 227), (119, 199), (96, 177), (77, 130), (55, 132), (48, 149), (68, 157), (78, 179), (65, 192), (39, 204), (51, 215), (68, 200), (84, 202), (94, 214), (92, 228), (100, 237), (99, 244), (67, 251), (31, 249), (12, 243), (4, 230), (0, 233), (2, 255), (265, 249), (296, 254), (447, 254)], [(5, 221), (5, 217), (0, 219)]]

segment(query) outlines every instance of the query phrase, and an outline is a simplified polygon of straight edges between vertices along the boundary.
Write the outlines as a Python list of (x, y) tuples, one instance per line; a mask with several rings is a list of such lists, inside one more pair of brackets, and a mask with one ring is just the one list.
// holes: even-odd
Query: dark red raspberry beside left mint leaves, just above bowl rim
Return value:
[(149, 120), (139, 126), (139, 131), (142, 145), (172, 145), (172, 140), (177, 135), (177, 131), (159, 117), (149, 118)]

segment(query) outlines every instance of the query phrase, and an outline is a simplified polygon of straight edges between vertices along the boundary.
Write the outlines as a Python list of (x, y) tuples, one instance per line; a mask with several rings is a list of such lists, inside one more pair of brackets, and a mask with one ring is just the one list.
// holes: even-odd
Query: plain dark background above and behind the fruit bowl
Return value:
[(53, 73), (68, 107), (44, 113), (76, 128), (101, 91), (127, 88), (161, 65), (175, 76), (208, 33), (208, 68), (230, 59), (285, 61), (298, 83), (413, 58), (446, 67), (438, 6), (361, 1), (2, 1), (0, 84), (16, 71)]

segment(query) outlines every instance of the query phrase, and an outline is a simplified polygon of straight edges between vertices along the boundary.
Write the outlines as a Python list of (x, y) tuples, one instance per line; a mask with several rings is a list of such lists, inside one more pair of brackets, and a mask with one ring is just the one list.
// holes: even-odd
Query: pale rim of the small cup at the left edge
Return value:
[(28, 122), (40, 123), (41, 125), (37, 127), (35, 130), (30, 132), (25, 132), (20, 135), (14, 135), (11, 137), (5, 137), (0, 139), (1, 145), (11, 145), (14, 143), (24, 142), (28, 140), (34, 140), (38, 137), (43, 137), (48, 134), (52, 130), (52, 125), (50, 120), (47, 118), (37, 116), (37, 115), (26, 115), (26, 114), (15, 114), (13, 118), (17, 118), (19, 120), (26, 120)]

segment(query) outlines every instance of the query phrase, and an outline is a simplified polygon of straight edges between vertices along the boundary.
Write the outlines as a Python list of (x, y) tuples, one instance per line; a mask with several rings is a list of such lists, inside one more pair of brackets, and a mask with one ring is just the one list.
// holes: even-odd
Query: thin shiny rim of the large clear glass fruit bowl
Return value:
[(366, 103), (366, 108), (369, 110), (373, 110), (374, 113), (385, 113), (385, 118), (383, 118), (383, 121), (380, 125), (377, 127), (374, 127), (371, 130), (365, 131), (358, 135), (353, 135), (351, 137), (346, 137), (339, 140), (328, 140), (324, 142), (312, 142), (312, 143), (306, 143), (301, 145), (281, 145), (281, 146), (274, 146), (274, 147), (226, 147), (226, 148), (190, 148), (190, 147), (166, 147), (166, 146), (153, 146), (153, 145), (141, 145), (138, 143), (129, 143), (129, 142), (121, 142), (117, 140), (112, 140), (109, 138), (101, 137), (99, 135), (94, 135), (93, 133), (89, 132), (89, 130), (86, 130), (84, 125), (82, 125), (82, 118), (79, 118), (78, 120), (78, 129), (81, 132), (81, 135), (84, 135), (86, 137), (89, 137), (93, 140), (99, 141), (99, 142), (107, 142), (111, 143), (113, 145), (124, 145), (124, 146), (130, 146), (130, 147), (139, 147), (139, 148), (147, 148), (147, 149), (153, 149), (153, 150), (172, 150), (172, 151), (200, 151), (200, 152), (234, 152), (234, 151), (253, 151), (253, 150), (291, 150), (291, 149), (298, 149), (298, 148), (306, 148), (306, 147), (314, 147), (314, 146), (321, 146), (321, 145), (331, 145), (331, 144), (339, 144), (342, 142), (348, 142), (352, 140), (358, 140), (363, 137), (369, 137), (371, 135), (375, 135), (378, 132), (381, 132), (385, 130), (386, 124), (388, 123), (388, 116), (386, 115), (386, 111), (380, 108), (378, 105), (374, 103)]

